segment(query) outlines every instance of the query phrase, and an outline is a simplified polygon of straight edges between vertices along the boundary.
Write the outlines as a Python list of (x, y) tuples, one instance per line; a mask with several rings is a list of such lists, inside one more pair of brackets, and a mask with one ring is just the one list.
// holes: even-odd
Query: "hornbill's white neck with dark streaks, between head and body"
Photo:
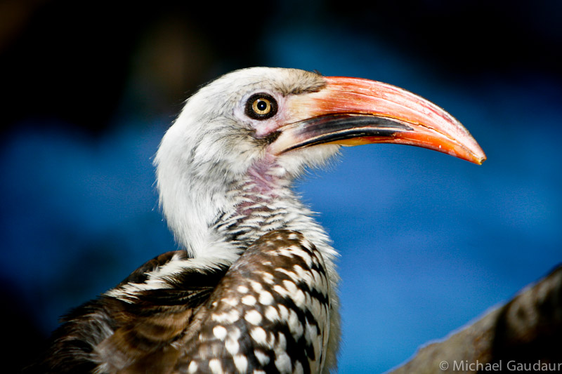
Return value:
[(293, 175), (275, 159), (261, 158), (242, 173), (212, 163), (190, 167), (193, 162), (160, 151), (156, 162), (164, 215), (191, 257), (230, 266), (267, 232), (289, 229), (311, 241), (334, 270), (337, 253), (329, 237), (294, 194)]

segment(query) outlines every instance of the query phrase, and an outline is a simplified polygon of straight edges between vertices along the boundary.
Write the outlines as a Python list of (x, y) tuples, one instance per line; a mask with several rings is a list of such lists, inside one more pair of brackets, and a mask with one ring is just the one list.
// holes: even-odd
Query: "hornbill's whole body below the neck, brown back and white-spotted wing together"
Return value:
[(228, 269), (196, 269), (190, 260), (184, 251), (164, 253), (76, 309), (54, 336), (46, 354), (50, 367), (40, 370), (322, 370), (330, 286), (313, 243), (299, 232), (275, 230), (261, 236)]

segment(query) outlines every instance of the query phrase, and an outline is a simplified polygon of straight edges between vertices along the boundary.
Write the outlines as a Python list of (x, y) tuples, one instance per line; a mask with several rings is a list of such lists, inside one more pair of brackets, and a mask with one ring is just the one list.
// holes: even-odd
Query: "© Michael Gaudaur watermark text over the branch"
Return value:
[(561, 371), (562, 363), (552, 363), (552, 362), (517, 362), (514, 360), (510, 361), (497, 361), (494, 363), (485, 363), (476, 360), (471, 361), (441, 361), (439, 363), (439, 368), (442, 371), (459, 371), (459, 372), (486, 372), (486, 371)]

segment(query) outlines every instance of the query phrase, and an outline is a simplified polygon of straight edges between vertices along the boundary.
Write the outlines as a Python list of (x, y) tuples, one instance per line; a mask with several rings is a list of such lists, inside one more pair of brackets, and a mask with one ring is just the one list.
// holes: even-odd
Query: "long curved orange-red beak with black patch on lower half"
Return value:
[(473, 163), (486, 156), (470, 133), (437, 105), (408, 91), (368, 79), (325, 77), (315, 93), (287, 100), (291, 123), (277, 129), (270, 152), (320, 144), (396, 143), (434, 149)]

